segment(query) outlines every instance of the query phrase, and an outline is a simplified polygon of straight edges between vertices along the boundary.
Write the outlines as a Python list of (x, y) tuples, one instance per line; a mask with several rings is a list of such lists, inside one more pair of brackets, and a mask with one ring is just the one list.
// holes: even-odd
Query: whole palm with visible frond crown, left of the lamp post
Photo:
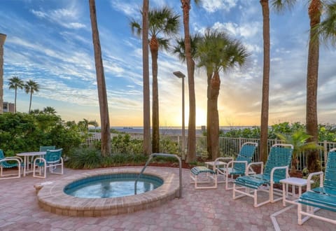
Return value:
[[(152, 56), (152, 73), (153, 73), (153, 102), (152, 102), (152, 122), (153, 122), (153, 153), (160, 152), (160, 130), (159, 130), (159, 92), (158, 92), (158, 51), (168, 49), (169, 37), (179, 31), (179, 15), (175, 14), (171, 8), (149, 10), (148, 13), (148, 34), (151, 36), (149, 47)], [(141, 25), (139, 22), (132, 20), (132, 33), (141, 34)]]

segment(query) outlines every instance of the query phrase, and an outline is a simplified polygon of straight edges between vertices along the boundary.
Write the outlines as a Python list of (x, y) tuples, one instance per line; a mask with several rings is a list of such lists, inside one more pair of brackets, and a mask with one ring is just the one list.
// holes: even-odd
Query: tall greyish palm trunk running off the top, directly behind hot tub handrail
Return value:
[(144, 0), (142, 12), (142, 62), (144, 90), (144, 155), (151, 155), (151, 99), (149, 90), (148, 61), (148, 11), (149, 2)]

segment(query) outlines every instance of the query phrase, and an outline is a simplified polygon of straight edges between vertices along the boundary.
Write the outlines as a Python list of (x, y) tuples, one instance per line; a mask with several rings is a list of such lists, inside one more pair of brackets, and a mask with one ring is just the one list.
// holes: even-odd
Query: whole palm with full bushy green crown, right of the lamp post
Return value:
[[(207, 135), (210, 137), (213, 160), (219, 156), (218, 95), (221, 88), (219, 73), (228, 71), (234, 66), (244, 65), (248, 56), (246, 48), (239, 41), (216, 30), (207, 29), (204, 38), (197, 44), (197, 66), (207, 69), (208, 83), (210, 83), (208, 107), (211, 112), (211, 123)], [(210, 81), (209, 76), (211, 76)]]

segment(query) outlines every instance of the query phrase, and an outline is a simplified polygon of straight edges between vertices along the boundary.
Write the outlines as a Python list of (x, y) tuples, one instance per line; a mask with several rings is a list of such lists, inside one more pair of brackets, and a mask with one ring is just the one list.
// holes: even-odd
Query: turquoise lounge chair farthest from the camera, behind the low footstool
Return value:
[[(228, 187), (228, 182), (233, 182), (234, 176), (243, 176), (243, 175), (251, 175), (255, 174), (253, 169), (251, 168), (250, 163), (252, 162), (252, 158), (255, 152), (255, 149), (258, 147), (258, 143), (254, 142), (246, 142), (244, 143), (239, 151), (236, 160), (233, 158), (217, 158), (215, 162), (221, 160), (231, 160), (230, 162), (224, 163), (223, 165), (214, 165), (216, 167), (217, 174), (221, 174), (225, 177), (225, 190), (232, 190), (233, 188)], [(229, 179), (231, 176), (231, 179)]]

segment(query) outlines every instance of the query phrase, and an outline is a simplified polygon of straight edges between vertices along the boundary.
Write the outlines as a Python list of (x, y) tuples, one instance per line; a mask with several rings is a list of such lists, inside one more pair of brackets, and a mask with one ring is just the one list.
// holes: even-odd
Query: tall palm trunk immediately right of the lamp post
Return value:
[[(194, 0), (199, 3), (200, 0)], [(189, 122), (188, 122), (188, 151), (186, 162), (196, 160), (196, 97), (195, 97), (195, 62), (191, 54), (190, 29), (189, 29), (189, 11), (191, 8), (190, 0), (181, 0), (183, 10), (183, 29), (184, 29), (184, 47), (186, 52), (186, 62), (188, 70), (188, 89), (189, 89)]]

